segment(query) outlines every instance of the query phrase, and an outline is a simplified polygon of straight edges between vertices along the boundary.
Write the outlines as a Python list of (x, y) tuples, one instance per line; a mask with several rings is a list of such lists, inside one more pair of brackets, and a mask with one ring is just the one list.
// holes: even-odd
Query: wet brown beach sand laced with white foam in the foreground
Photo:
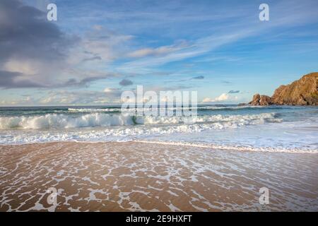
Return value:
[[(1, 211), (318, 210), (318, 154), (133, 141), (1, 145), (0, 153)], [(259, 203), (262, 187), (268, 205)]]

